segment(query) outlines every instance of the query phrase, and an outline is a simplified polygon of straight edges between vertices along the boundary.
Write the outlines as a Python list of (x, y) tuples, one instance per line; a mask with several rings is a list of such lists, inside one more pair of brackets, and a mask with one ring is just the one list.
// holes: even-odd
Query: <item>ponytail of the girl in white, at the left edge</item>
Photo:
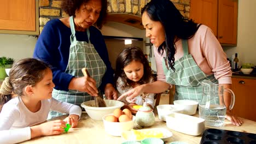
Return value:
[(0, 88), (0, 112), (3, 105), (11, 99), (11, 92), (13, 92), (13, 86), (10, 83), (9, 77), (5, 77)]

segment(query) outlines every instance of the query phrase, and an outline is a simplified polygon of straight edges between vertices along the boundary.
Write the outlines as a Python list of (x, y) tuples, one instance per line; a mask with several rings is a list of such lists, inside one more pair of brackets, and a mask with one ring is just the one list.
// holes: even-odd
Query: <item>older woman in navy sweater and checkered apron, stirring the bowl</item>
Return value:
[[(106, 44), (92, 26), (102, 27), (107, 0), (65, 0), (62, 10), (70, 17), (46, 23), (33, 55), (52, 66), (53, 97), (76, 105), (101, 92), (108, 99), (117, 99)], [(88, 69), (91, 77), (83, 76), (82, 68)], [(51, 112), (48, 118), (58, 115)]]

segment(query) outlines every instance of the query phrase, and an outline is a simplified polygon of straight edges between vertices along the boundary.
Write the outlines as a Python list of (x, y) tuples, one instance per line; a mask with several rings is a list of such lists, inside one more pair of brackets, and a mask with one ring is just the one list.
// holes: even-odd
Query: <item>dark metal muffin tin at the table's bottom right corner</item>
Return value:
[(256, 134), (222, 129), (206, 129), (203, 132), (200, 144), (218, 143), (256, 144)]

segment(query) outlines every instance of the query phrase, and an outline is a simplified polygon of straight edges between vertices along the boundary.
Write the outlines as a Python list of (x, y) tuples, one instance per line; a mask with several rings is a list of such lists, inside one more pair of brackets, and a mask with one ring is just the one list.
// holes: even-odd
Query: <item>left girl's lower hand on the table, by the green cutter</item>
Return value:
[(62, 120), (50, 121), (39, 125), (42, 135), (61, 134), (64, 131), (63, 128), (66, 128), (66, 122)]

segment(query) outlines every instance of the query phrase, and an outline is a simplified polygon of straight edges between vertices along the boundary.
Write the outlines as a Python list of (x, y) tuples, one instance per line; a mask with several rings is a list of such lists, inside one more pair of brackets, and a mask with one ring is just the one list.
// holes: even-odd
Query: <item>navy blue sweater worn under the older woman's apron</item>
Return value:
[[(108, 51), (101, 32), (94, 26), (89, 27), (90, 41), (107, 66), (107, 71), (102, 78), (101, 91), (107, 83), (113, 84), (113, 69), (111, 67)], [(69, 46), (71, 29), (64, 25), (59, 19), (50, 20), (44, 26), (40, 34), (33, 57), (51, 65), (53, 71), (53, 82), (55, 89), (68, 91), (68, 85), (73, 75), (65, 73), (69, 58)], [(78, 41), (87, 41), (85, 32), (75, 32)]]

